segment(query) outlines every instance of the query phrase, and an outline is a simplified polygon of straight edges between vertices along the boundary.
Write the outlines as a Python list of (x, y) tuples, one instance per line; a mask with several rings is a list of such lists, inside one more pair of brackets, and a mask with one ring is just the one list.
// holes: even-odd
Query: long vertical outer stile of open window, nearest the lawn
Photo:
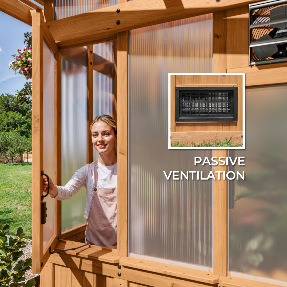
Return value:
[(41, 195), (43, 182), (43, 32), (40, 14), (32, 16), (33, 73), (32, 73), (32, 272), (41, 271), (43, 257), (43, 225), (41, 224)]

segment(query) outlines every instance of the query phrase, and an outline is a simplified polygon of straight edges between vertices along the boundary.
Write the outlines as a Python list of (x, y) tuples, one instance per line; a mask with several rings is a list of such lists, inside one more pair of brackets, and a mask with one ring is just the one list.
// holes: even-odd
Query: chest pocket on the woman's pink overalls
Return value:
[(117, 196), (100, 195), (101, 202), (101, 226), (117, 226)]

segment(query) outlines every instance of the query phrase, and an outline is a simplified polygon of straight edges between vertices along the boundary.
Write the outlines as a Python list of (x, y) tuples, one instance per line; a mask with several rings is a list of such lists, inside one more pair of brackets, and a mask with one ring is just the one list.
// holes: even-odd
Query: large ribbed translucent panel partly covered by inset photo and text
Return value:
[(212, 182), (166, 180), (163, 173), (210, 171), (193, 162), (194, 156), (211, 157), (211, 150), (168, 150), (167, 143), (168, 72), (211, 67), (212, 14), (130, 31), (131, 256), (211, 267)]

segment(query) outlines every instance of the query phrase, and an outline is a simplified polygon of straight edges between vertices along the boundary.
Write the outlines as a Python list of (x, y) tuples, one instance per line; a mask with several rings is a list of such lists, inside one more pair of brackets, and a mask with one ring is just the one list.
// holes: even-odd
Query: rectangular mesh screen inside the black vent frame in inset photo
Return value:
[(182, 115), (229, 115), (231, 92), (181, 93)]

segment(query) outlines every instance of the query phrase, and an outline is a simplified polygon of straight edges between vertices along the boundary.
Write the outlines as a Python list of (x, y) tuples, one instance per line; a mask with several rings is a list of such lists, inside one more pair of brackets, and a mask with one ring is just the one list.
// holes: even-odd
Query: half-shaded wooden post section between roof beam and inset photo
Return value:
[(226, 11), (213, 13), (213, 72), (226, 73)]

